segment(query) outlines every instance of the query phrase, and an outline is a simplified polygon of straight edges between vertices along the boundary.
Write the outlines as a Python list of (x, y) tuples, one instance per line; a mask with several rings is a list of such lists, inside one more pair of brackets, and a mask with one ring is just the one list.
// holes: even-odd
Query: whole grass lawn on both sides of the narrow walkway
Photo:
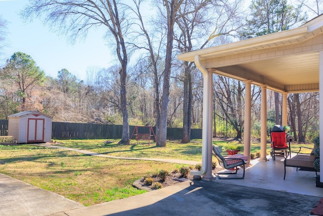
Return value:
[[(174, 158), (201, 161), (201, 140), (181, 144), (180, 141), (168, 141), (166, 147), (156, 147), (155, 143), (136, 145), (118, 145), (118, 140), (105, 144), (105, 140), (57, 140), (56, 145), (84, 149), (92, 152), (123, 157)], [(213, 141), (220, 147), (239, 145), (237, 142)], [(292, 150), (298, 150), (292, 144)], [(312, 147), (312, 144), (307, 145)], [(260, 151), (260, 144), (251, 144), (251, 152)], [(270, 152), (270, 144), (267, 144)], [(86, 206), (114, 199), (144, 193), (135, 189), (132, 183), (146, 174), (164, 169), (172, 171), (184, 164), (121, 160), (88, 156), (74, 151), (49, 149), (39, 146), (0, 145), (0, 172), (60, 194)]]

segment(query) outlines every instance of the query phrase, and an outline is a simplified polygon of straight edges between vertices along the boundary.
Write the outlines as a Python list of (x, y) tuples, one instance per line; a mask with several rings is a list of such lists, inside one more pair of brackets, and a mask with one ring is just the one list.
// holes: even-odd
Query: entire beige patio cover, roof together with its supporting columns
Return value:
[[(261, 86), (260, 159), (266, 158), (266, 91), (282, 93), (282, 124), (287, 125), (287, 94), (319, 92), (323, 107), (323, 15), (282, 32), (232, 42), (178, 55), (195, 62), (203, 73), (202, 169), (191, 174), (212, 179), (212, 73), (245, 82), (244, 155), (250, 158), (251, 84)], [(320, 82), (319, 82), (320, 80)], [(323, 109), (319, 110), (323, 140)], [(323, 155), (323, 143), (321, 155)], [(323, 160), (320, 161), (323, 167)]]

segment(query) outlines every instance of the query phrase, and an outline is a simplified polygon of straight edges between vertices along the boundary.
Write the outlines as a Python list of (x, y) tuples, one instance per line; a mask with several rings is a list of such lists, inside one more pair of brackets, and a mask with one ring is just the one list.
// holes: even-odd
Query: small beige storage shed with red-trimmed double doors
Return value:
[(8, 116), (8, 136), (18, 143), (51, 141), (52, 117), (38, 111), (23, 111)]

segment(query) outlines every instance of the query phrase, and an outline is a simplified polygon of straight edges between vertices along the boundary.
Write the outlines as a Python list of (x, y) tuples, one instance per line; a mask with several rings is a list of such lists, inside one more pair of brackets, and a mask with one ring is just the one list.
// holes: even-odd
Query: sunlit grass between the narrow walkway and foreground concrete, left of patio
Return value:
[(181, 164), (119, 160), (38, 146), (0, 146), (0, 172), (86, 206), (145, 193), (134, 181)]

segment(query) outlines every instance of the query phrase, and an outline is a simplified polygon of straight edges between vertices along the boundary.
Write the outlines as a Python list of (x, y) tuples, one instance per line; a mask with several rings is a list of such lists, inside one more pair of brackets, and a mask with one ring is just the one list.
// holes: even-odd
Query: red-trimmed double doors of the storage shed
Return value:
[(28, 118), (27, 143), (44, 142), (44, 118)]

